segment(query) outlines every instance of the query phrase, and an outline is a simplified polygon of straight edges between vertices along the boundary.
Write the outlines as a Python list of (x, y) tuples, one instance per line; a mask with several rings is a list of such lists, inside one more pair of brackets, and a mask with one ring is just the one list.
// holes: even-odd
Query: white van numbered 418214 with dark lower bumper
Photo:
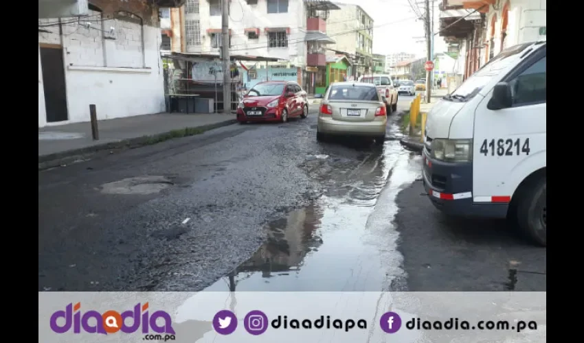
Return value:
[(437, 102), (424, 142), (436, 208), (517, 220), (546, 246), (546, 41), (505, 49)]

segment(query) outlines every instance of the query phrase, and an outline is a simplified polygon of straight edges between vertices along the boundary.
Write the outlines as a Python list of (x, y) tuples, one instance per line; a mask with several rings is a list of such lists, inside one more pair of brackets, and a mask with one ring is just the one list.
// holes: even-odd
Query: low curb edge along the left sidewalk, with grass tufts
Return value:
[(85, 161), (89, 159), (91, 155), (96, 154), (97, 152), (103, 150), (134, 149), (136, 147), (143, 147), (146, 145), (161, 143), (164, 141), (168, 141), (170, 139), (194, 136), (195, 134), (201, 134), (205, 131), (213, 130), (216, 128), (222, 128), (223, 126), (229, 126), (234, 123), (237, 123), (237, 119), (229, 119), (225, 121), (220, 121), (218, 123), (212, 123), (203, 126), (190, 126), (186, 128), (179, 128), (175, 130), (161, 132), (159, 134), (152, 134), (149, 136), (122, 139), (121, 141), (117, 142), (103, 143), (98, 145), (92, 145), (91, 147), (82, 147), (80, 149), (67, 150), (65, 152), (56, 152), (54, 154), (42, 155), (38, 156), (38, 170), (41, 171), (44, 169), (58, 167), (60, 165), (66, 165), (76, 161)]

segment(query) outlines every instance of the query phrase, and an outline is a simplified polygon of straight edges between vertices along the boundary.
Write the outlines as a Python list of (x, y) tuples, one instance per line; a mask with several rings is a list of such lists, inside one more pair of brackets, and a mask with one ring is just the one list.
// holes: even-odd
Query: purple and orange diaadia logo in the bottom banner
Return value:
[[(59, 318), (65, 319), (65, 324), (58, 324)], [(157, 319), (164, 321), (163, 325), (157, 324)], [(128, 324), (128, 322), (131, 322)], [(150, 329), (155, 333), (168, 333), (175, 335), (172, 328), (172, 320), (166, 311), (155, 311), (148, 313), (148, 303), (140, 305), (137, 303), (133, 309), (122, 312), (105, 311), (100, 314), (98, 311), (81, 311), (81, 303), (69, 303), (65, 311), (56, 311), (50, 319), (51, 329), (56, 333), (66, 333), (73, 328), (74, 333), (80, 333), (81, 329), (87, 333), (135, 333), (142, 328), (142, 333), (149, 333)]]

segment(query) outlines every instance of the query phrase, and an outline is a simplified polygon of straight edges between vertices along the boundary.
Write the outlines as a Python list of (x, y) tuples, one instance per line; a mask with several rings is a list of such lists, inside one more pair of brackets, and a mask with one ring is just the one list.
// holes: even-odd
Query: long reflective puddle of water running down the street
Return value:
[[(396, 127), (392, 127), (396, 131)], [(392, 224), (400, 189), (419, 178), (420, 156), (398, 141), (358, 161), (315, 158), (328, 182), (317, 202), (267, 227), (267, 241), (205, 291), (385, 291), (404, 279)], [(326, 173), (317, 173), (325, 169)], [(327, 175), (323, 177), (322, 175)]]

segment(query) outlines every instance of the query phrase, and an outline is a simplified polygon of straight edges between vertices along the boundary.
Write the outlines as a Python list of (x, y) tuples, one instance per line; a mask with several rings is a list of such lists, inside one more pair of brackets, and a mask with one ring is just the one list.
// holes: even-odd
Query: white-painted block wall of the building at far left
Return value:
[[(95, 18), (99, 12), (89, 15)], [(39, 20), (39, 25), (57, 20)], [(63, 45), (69, 116), (67, 121), (46, 122), (39, 45), (39, 127), (89, 121), (89, 104), (96, 104), (98, 119), (164, 112), (160, 28), (119, 19), (103, 21), (103, 26), (99, 20), (92, 21), (91, 26), (95, 28), (78, 23), (63, 25), (62, 36), (58, 25), (43, 27), (49, 32), (38, 33), (38, 43)], [(112, 35), (102, 32), (110, 27), (114, 27)], [(104, 38), (108, 36), (115, 39)]]

